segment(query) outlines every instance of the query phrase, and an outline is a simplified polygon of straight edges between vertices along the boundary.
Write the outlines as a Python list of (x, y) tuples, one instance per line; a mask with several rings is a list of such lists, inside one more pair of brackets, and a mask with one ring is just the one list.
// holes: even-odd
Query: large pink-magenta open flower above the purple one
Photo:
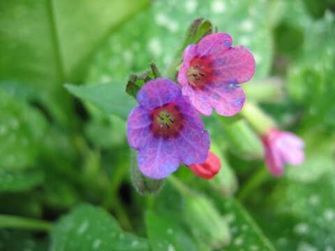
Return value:
[(241, 110), (246, 98), (238, 84), (255, 73), (255, 59), (245, 47), (232, 47), (225, 33), (205, 36), (198, 45), (188, 45), (179, 69), (182, 93), (201, 114), (232, 116)]

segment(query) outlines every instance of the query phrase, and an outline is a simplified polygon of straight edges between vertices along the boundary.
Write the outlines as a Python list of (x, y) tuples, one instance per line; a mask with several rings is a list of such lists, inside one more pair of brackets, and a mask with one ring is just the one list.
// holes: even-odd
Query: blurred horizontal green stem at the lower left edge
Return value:
[(0, 215), (0, 228), (50, 231), (52, 229), (52, 223), (33, 218), (24, 218), (13, 215)]

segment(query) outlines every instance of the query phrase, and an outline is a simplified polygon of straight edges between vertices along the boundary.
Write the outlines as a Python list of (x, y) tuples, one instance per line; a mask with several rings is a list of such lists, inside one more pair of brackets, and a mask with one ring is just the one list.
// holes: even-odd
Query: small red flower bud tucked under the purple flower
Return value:
[(212, 152), (208, 152), (207, 159), (202, 164), (188, 165), (193, 174), (200, 178), (214, 178), (221, 168), (221, 161)]

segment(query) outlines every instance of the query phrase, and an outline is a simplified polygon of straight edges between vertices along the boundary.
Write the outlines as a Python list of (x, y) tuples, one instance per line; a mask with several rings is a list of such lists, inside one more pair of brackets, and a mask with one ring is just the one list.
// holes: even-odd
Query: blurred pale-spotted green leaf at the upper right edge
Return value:
[(290, 97), (305, 107), (304, 123), (314, 128), (335, 128), (335, 22), (327, 12), (304, 29), (304, 46), (288, 72)]

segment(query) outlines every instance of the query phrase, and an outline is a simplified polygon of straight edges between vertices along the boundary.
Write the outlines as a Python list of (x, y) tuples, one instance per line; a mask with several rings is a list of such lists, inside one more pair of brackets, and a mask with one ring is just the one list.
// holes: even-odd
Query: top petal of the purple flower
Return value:
[(179, 86), (170, 79), (154, 79), (144, 84), (137, 93), (137, 101), (147, 109), (172, 102), (181, 94)]

